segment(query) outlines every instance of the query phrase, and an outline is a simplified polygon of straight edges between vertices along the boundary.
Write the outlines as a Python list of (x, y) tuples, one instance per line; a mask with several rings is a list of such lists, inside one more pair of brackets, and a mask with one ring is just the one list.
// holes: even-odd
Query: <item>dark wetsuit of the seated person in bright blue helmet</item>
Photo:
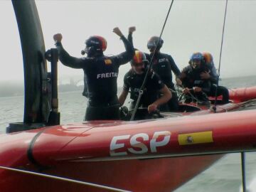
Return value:
[[(186, 75), (185, 78), (181, 78), (182, 84), (184, 87), (188, 87), (189, 89), (192, 89), (193, 87), (201, 87), (202, 92), (193, 92), (193, 90), (190, 91), (195, 97), (197, 97), (198, 100), (201, 100), (201, 101), (208, 101), (207, 95), (209, 94), (211, 90), (211, 85), (212, 85), (210, 80), (201, 79), (200, 74), (205, 71), (208, 71), (208, 68), (206, 67), (206, 65), (196, 70), (193, 69), (191, 65), (188, 65), (186, 68), (183, 68), (183, 70), (181, 71), (181, 73), (185, 73)], [(206, 95), (204, 95), (203, 93), (206, 93)], [(192, 101), (191, 97), (190, 99), (186, 100), (186, 102), (191, 102), (191, 101)]]

